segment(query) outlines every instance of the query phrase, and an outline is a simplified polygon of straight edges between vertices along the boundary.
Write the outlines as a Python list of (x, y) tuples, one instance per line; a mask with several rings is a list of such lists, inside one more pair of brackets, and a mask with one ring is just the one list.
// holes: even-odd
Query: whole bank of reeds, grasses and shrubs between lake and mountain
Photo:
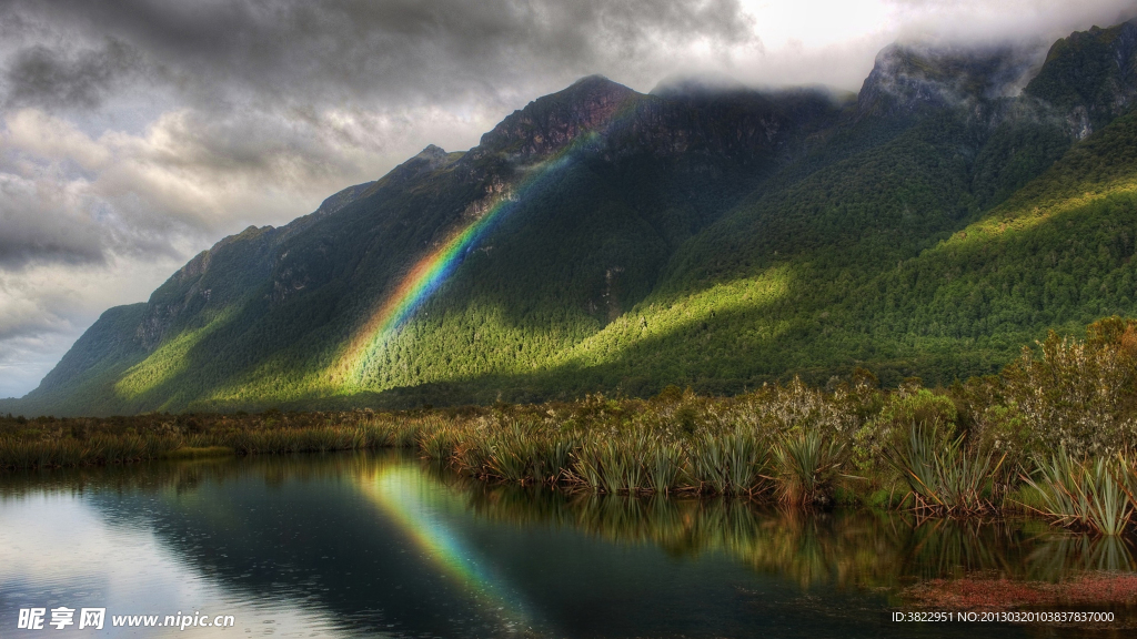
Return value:
[(1032, 512), (1102, 534), (1135, 523), (1137, 322), (1052, 334), (1002, 374), (881, 390), (857, 370), (736, 397), (671, 387), (650, 399), (402, 413), (0, 418), (0, 467), (415, 447), (483, 480), (600, 493), (733, 495), (921, 516)]

